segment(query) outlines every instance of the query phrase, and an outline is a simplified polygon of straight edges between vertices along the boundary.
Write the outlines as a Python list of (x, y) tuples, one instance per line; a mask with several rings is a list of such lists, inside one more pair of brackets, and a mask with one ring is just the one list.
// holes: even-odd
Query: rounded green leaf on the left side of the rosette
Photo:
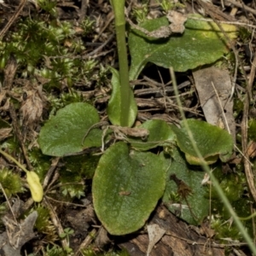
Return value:
[(61, 108), (44, 125), (38, 143), (44, 154), (63, 156), (82, 151), (84, 148), (100, 147), (102, 130), (92, 129), (100, 121), (96, 108), (87, 103), (72, 103)]

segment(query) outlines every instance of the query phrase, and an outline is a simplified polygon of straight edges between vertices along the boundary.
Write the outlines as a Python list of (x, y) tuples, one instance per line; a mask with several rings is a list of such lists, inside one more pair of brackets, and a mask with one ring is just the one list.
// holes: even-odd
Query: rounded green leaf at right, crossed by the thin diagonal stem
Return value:
[[(187, 119), (195, 144), (207, 164), (212, 164), (218, 160), (227, 161), (230, 159), (233, 149), (233, 139), (227, 131), (210, 125), (207, 122)], [(172, 130), (177, 136), (177, 145), (185, 153), (186, 159), (191, 165), (201, 165), (201, 161), (192, 143), (189, 140), (188, 131), (185, 128), (184, 121), (181, 122), (181, 128), (172, 125)]]

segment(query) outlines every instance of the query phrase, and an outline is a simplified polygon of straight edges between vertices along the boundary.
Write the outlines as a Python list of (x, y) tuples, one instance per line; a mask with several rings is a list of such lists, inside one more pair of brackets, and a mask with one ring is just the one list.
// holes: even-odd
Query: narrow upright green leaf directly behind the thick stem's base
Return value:
[[(112, 72), (112, 94), (108, 102), (108, 119), (113, 125), (121, 125), (121, 86), (119, 84), (119, 73), (113, 67), (110, 67)], [(137, 117), (137, 104), (134, 99), (133, 92), (131, 91), (130, 99), (130, 113), (129, 113), (129, 124), (131, 127)]]

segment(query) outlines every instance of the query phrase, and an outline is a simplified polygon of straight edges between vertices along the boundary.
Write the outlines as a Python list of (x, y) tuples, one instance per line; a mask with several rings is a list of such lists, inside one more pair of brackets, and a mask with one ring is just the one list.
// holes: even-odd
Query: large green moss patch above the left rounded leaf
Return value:
[[(67, 21), (41, 19), (35, 16), (22, 20), (11, 34), (9, 44), (0, 43), (0, 68), (10, 55), (15, 55), (22, 77), (49, 79), (45, 88), (61, 88), (63, 83), (69, 87), (84, 84), (84, 78), (92, 77), (97, 63), (80, 57), (85, 49), (82, 38), (77, 37)], [(84, 24), (84, 28), (90, 26), (91, 22)]]

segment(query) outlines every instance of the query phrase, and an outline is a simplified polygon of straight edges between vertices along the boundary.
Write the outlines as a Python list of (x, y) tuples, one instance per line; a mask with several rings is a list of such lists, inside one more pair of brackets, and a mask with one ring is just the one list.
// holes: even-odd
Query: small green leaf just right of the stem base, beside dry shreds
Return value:
[(165, 146), (172, 143), (175, 139), (175, 134), (170, 125), (163, 120), (151, 119), (137, 126), (137, 128), (144, 128), (149, 131), (147, 140), (142, 138), (129, 138), (132, 148), (137, 150), (148, 150), (157, 146)]

